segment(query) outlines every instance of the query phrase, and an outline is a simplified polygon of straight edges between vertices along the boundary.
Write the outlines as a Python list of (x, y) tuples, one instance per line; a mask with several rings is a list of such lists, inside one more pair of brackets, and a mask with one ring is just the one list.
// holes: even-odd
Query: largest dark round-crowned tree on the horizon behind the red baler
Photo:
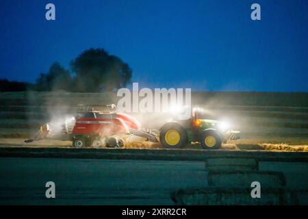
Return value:
[(88, 49), (70, 62), (70, 66), (76, 74), (73, 90), (78, 92), (110, 91), (131, 82), (129, 65), (104, 49)]

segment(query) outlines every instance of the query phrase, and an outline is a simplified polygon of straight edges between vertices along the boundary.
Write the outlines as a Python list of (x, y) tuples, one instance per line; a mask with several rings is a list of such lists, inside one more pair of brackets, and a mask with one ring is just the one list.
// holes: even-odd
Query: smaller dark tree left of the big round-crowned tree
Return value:
[(40, 91), (70, 90), (71, 81), (69, 71), (58, 62), (54, 62), (47, 74), (40, 73), (40, 76), (36, 79), (36, 87)]

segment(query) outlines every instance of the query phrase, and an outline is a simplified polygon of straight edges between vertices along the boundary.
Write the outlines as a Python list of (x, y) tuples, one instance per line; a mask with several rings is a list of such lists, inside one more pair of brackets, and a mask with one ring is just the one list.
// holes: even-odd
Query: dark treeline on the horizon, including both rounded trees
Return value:
[(55, 91), (101, 92), (126, 87), (132, 70), (120, 57), (104, 49), (88, 49), (70, 62), (70, 69), (60, 63), (51, 64), (47, 73), (40, 73), (35, 83), (0, 79), (0, 92)]

